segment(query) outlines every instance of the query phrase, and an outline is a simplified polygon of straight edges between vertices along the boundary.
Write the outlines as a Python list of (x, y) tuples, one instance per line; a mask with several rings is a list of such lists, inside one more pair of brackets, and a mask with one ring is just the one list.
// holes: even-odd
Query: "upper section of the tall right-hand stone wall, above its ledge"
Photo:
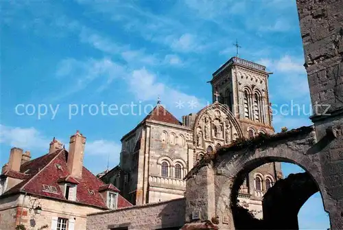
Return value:
[[(312, 105), (343, 107), (343, 4), (341, 0), (298, 0), (300, 31)], [(318, 107), (323, 113), (326, 106)]]

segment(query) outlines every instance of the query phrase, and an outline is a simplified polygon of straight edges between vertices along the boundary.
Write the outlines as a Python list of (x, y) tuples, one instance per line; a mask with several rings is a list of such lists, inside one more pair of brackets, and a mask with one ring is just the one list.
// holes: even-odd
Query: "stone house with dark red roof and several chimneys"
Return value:
[(86, 214), (132, 206), (84, 168), (85, 143), (79, 132), (69, 151), (53, 139), (49, 152), (36, 159), (11, 149), (0, 175), (0, 229), (86, 229)]

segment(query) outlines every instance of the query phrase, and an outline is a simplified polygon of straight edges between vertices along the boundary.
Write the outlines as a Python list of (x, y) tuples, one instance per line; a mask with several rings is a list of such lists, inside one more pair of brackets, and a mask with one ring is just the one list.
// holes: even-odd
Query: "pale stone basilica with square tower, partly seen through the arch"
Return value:
[[(120, 163), (100, 175), (134, 205), (182, 198), (187, 172), (216, 149), (235, 139), (272, 134), (265, 67), (238, 57), (213, 73), (213, 103), (180, 122), (159, 102), (121, 139)], [(263, 194), (282, 178), (280, 163), (252, 170), (241, 185), (239, 201), (261, 217)]]

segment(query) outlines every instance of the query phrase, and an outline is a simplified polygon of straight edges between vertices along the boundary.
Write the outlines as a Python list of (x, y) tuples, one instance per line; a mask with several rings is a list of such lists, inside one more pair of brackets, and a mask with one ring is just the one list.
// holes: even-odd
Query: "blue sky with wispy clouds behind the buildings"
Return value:
[[(52, 137), (68, 143), (75, 130), (87, 137), (87, 168), (104, 170), (108, 152), (110, 167), (117, 165), (121, 137), (158, 96), (179, 119), (211, 102), (206, 81), (235, 56), (236, 38), (241, 58), (274, 73), (276, 131), (311, 124), (295, 1), (4, 1), (1, 14), (1, 165), (12, 146), (38, 157)], [(130, 103), (135, 115), (128, 107), (95, 113), (101, 104)], [(301, 107), (287, 115), (291, 103)], [(47, 113), (38, 117), (43, 104)], [(303, 209), (300, 227), (329, 227), (320, 195)]]

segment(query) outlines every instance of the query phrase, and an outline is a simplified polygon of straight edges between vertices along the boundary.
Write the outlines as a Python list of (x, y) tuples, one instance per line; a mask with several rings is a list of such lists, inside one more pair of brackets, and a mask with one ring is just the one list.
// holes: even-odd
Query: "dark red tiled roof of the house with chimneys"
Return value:
[[(84, 167), (82, 168), (82, 178), (73, 178), (70, 176), (67, 168), (67, 155), (67, 150), (57, 150), (54, 153), (45, 154), (42, 157), (23, 163), (23, 165), (21, 165), (21, 172), (14, 172), (11, 170), (1, 174), (1, 177), (9, 176), (12, 178), (22, 179), (23, 181), (6, 191), (0, 197), (12, 196), (20, 192), (27, 192), (27, 194), (67, 201), (64, 197), (64, 191), (62, 191), (59, 186), (61, 182), (65, 181), (78, 184), (76, 189), (76, 200), (68, 200), (68, 202), (108, 209), (104, 198), (99, 192), (99, 188), (108, 186), (110, 187), (110, 190), (116, 192), (119, 192), (119, 189), (113, 189), (115, 186), (112, 185), (112, 187), (104, 184)], [(23, 172), (26, 172), (26, 174)], [(46, 191), (46, 185), (53, 186), (56, 189), (53, 189), (53, 192)], [(132, 206), (132, 204), (118, 194), (117, 207), (122, 208), (130, 206)]]

